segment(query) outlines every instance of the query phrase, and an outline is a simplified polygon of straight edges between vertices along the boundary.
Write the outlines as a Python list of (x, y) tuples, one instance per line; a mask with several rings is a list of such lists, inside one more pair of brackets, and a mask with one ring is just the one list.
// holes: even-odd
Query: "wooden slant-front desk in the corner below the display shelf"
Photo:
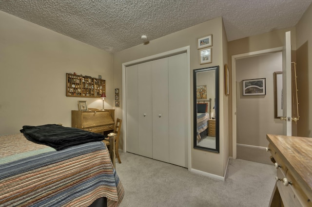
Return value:
[(72, 127), (95, 133), (114, 130), (115, 110), (72, 111)]

